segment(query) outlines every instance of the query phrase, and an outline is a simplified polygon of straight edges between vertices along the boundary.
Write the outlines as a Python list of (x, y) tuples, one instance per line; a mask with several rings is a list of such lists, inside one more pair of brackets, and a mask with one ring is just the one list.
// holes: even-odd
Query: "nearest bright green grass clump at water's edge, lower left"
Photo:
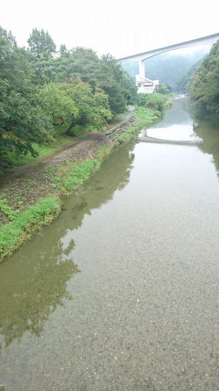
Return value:
[(18, 213), (13, 221), (0, 227), (0, 261), (11, 255), (20, 244), (42, 225), (50, 223), (61, 210), (61, 202), (54, 196), (38, 200), (34, 206)]

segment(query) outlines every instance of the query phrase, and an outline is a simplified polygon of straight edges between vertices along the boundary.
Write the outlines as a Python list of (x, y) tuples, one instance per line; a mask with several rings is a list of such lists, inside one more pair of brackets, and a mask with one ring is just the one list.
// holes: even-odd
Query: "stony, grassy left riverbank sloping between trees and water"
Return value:
[(100, 169), (119, 144), (161, 117), (154, 109), (137, 107), (134, 114), (105, 132), (92, 131), (83, 140), (49, 159), (27, 165), (1, 180), (0, 261), (61, 211), (63, 195), (70, 195)]

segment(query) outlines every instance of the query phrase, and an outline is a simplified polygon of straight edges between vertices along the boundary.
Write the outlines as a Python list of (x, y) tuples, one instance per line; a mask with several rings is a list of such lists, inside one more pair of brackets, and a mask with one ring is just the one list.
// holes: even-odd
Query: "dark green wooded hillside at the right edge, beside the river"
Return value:
[(199, 115), (219, 116), (219, 41), (194, 74), (189, 93)]

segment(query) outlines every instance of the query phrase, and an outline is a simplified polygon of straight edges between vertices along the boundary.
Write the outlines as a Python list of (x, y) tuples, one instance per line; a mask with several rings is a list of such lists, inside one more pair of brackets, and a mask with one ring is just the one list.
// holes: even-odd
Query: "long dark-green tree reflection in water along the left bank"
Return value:
[[(80, 191), (66, 198), (62, 215), (26, 242), (0, 265), (0, 334), (8, 346), (25, 331), (39, 335), (44, 322), (64, 300), (73, 299), (68, 281), (78, 267), (73, 262), (74, 240), (63, 237), (77, 229), (85, 214), (100, 207), (129, 181), (134, 142), (112, 153), (99, 173)], [(100, 186), (101, 183), (101, 186)]]

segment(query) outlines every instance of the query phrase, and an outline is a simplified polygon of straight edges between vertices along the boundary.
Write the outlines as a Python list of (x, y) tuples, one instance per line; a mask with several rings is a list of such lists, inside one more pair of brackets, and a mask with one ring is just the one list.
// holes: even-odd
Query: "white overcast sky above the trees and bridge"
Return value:
[(57, 47), (91, 47), (119, 58), (219, 33), (219, 1), (0, 0), (0, 24), (20, 45), (37, 27)]

